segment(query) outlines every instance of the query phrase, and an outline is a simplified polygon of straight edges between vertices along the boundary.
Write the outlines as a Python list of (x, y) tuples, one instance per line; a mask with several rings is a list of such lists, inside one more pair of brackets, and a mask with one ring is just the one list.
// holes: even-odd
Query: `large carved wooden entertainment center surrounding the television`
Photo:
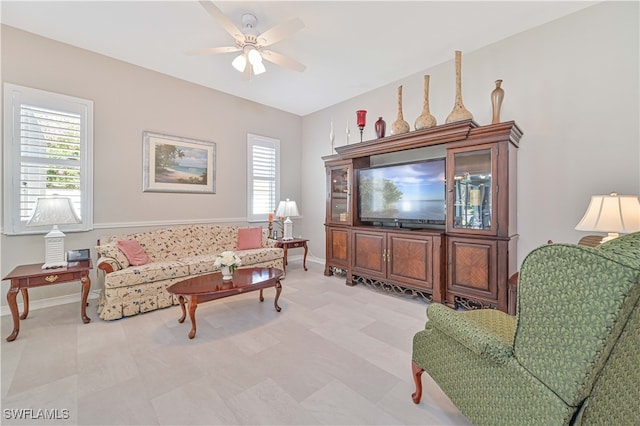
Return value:
[[(517, 270), (516, 178), (522, 131), (472, 120), (345, 145), (323, 157), (327, 176), (325, 275), (434, 302), (507, 312)], [(444, 224), (360, 219), (358, 171), (444, 159)]]

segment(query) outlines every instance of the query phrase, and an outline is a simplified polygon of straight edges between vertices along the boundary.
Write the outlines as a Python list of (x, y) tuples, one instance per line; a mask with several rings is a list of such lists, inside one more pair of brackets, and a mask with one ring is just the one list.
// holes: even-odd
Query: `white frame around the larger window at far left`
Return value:
[[(93, 101), (31, 87), (4, 83), (4, 230), (6, 235), (41, 234), (51, 226), (27, 227), (20, 217), (21, 201), (21, 105), (72, 112), (80, 115), (80, 205), (78, 224), (60, 225), (63, 232), (93, 229)], [(53, 195), (53, 194), (52, 194)]]

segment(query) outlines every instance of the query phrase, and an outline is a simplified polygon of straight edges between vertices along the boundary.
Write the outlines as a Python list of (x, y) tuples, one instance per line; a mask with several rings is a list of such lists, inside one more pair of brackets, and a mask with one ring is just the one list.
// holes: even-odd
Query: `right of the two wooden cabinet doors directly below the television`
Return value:
[(433, 274), (429, 268), (433, 263), (433, 238), (389, 234), (387, 247), (389, 279), (433, 288)]

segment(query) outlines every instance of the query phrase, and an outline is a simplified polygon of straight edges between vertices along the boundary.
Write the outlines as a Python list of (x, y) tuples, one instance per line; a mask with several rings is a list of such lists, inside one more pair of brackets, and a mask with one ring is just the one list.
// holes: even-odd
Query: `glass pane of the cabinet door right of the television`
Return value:
[(492, 229), (492, 162), (491, 148), (453, 154), (453, 228)]

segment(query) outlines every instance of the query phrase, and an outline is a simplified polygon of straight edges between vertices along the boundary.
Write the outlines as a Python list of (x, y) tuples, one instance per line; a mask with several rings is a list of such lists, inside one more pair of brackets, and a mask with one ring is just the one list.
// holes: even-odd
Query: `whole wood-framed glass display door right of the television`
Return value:
[(448, 151), (448, 232), (496, 235), (496, 154), (493, 144)]

